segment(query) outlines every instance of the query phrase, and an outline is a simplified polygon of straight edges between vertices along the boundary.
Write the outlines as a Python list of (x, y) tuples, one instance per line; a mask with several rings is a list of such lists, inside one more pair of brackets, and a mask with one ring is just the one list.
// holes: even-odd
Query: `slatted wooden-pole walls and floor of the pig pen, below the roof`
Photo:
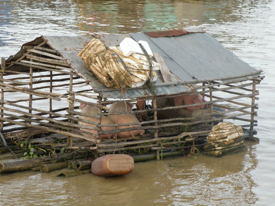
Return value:
[[(0, 153), (17, 151), (22, 144), (29, 152), (27, 147), (31, 143), (37, 151), (40, 148), (46, 151), (46, 155), (51, 151), (56, 153), (77, 151), (77, 154), (86, 153), (86, 158), (92, 159), (105, 154), (130, 154), (137, 162), (148, 159), (159, 160), (165, 156), (187, 155), (192, 147), (202, 149), (211, 128), (224, 120), (237, 122), (243, 128), (246, 140), (259, 140), (254, 137), (257, 134), (254, 129), (257, 126), (257, 120), (254, 117), (257, 116), (258, 109), (255, 100), (259, 99), (256, 85), (260, 84), (264, 76), (251, 77), (251, 75), (261, 71), (250, 72), (245, 76), (226, 76), (223, 79), (232, 78), (231, 81), (226, 82), (221, 78), (206, 78), (155, 83), (155, 87), (192, 83), (197, 90), (192, 94), (201, 94), (207, 101), (192, 105), (160, 107), (158, 102), (163, 98), (187, 94), (144, 95), (143, 100), (149, 103), (147, 109), (108, 113), (109, 105), (114, 102), (135, 104), (137, 99), (104, 97), (104, 92), (117, 90), (91, 88), (90, 80), (77, 73), (67, 59), (47, 44), (43, 37), (23, 45), (22, 51), (21, 55), (11, 57), (7, 61), (2, 58), (0, 135), (3, 146), (0, 148)], [(142, 98), (139, 97), (139, 100)], [(96, 106), (100, 114), (81, 113), (80, 103)], [(192, 112), (185, 117), (163, 116), (165, 113), (183, 111), (188, 106), (206, 104), (208, 108), (202, 109), (195, 116)], [(102, 116), (123, 113), (137, 115), (142, 112), (146, 112), (150, 119), (133, 123), (138, 124), (139, 127), (102, 130), (107, 126), (131, 125), (104, 125), (100, 123)], [(96, 118), (99, 123), (80, 119), (79, 116)], [(78, 121), (94, 124), (96, 127), (79, 125)], [(81, 128), (96, 130), (97, 135), (83, 131), (81, 134)], [(137, 129), (144, 129), (146, 132), (135, 138), (100, 139), (100, 135), (103, 134)], [(83, 134), (92, 135), (94, 139)], [(65, 167), (65, 164), (59, 167)], [(37, 165), (41, 166), (40, 163), (33, 163), (31, 168)], [(45, 166), (43, 168), (41, 167), (41, 171), (51, 170)]]

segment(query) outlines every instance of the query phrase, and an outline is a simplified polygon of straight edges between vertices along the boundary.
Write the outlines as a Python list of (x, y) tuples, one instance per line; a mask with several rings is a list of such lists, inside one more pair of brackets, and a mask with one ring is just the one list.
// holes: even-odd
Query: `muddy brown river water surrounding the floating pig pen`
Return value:
[(248, 150), (139, 162), (124, 177), (0, 176), (0, 205), (275, 205), (274, 0), (0, 1), (0, 56), (41, 35), (83, 35), (200, 26), (262, 69), (256, 137)]

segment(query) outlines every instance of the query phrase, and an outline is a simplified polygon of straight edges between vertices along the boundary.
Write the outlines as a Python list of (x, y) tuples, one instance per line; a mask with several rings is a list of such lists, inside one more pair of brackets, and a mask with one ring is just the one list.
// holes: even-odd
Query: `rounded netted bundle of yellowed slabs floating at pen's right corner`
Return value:
[(246, 150), (242, 127), (221, 122), (212, 128), (204, 146), (205, 154), (220, 157), (224, 154)]

